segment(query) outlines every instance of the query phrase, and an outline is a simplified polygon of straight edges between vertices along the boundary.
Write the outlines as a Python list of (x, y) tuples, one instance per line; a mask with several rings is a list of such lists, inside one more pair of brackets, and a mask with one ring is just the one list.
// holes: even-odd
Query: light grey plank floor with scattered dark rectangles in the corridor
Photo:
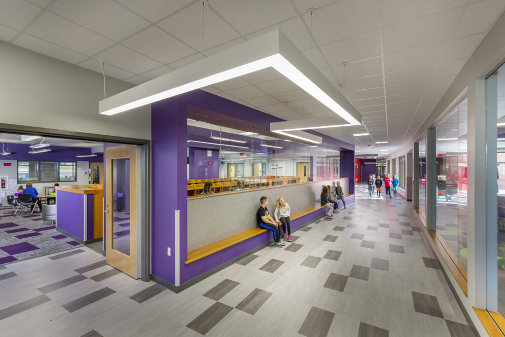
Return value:
[(1, 336), (473, 336), (403, 199), (368, 198), (174, 294), (79, 247), (0, 268)]

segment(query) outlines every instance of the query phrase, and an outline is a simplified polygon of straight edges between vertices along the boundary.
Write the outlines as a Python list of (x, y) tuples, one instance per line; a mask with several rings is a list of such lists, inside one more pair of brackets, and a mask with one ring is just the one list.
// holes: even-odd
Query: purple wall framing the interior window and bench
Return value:
[[(186, 113), (188, 111), (241, 125), (246, 125), (246, 122), (251, 124), (260, 122), (267, 131), (270, 130), (270, 122), (282, 121), (274, 116), (202, 90), (194, 90), (151, 105), (151, 150), (153, 154), (151, 167), (153, 181), (151, 186), (151, 273), (172, 284), (176, 283), (176, 263), (180, 268), (180, 283), (183, 283), (271, 239), (270, 233), (258, 235), (197, 262), (184, 264), (187, 258), (186, 147), (188, 128), (186, 127)], [(341, 177), (344, 177), (344, 173), (349, 176), (351, 190), (354, 192), (354, 145), (317, 132), (311, 133), (322, 136), (324, 143), (345, 152), (345, 159), (342, 159), (343, 164), (341, 164)], [(176, 211), (180, 212), (181, 256), (179, 261), (175, 261), (175, 254), (167, 255), (167, 247), (175, 247), (174, 214)], [(319, 210), (296, 219), (292, 222), (292, 226), (296, 228), (323, 213), (324, 210)]]

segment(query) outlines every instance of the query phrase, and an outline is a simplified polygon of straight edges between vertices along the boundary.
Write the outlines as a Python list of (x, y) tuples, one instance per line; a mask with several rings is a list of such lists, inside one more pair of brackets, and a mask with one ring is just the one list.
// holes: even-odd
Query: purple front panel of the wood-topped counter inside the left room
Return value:
[(86, 195), (57, 191), (56, 226), (81, 240), (84, 240), (84, 197)]

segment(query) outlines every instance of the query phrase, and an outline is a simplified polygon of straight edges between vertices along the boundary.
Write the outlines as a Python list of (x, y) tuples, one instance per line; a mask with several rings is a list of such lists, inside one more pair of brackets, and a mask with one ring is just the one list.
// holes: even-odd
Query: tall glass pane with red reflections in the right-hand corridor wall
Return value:
[(467, 104), (464, 99), (436, 126), (436, 235), (465, 279), (468, 256)]

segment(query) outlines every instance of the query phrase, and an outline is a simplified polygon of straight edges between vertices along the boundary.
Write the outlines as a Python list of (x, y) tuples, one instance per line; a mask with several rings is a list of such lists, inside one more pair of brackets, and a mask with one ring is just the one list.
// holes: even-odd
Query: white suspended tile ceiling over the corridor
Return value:
[[(197, 0), (0, 0), (0, 39), (97, 72), (103, 59), (107, 75), (140, 84), (279, 28), (337, 88), (348, 62), (341, 89), (363, 125), (319, 131), (385, 155), (410, 140), (504, 7), (503, 0), (209, 0), (205, 9)], [(333, 114), (272, 70), (206, 90), (285, 120)], [(352, 136), (362, 132), (370, 136)]]

